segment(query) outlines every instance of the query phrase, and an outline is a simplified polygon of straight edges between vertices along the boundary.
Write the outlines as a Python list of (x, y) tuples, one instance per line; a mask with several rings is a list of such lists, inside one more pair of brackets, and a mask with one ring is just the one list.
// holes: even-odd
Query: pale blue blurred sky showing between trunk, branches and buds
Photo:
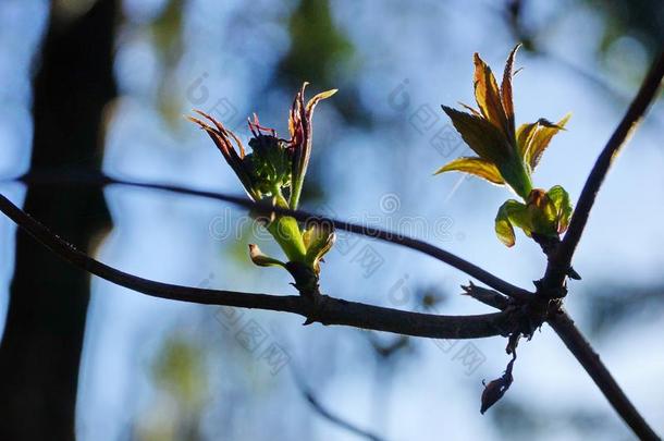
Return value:
[[(541, 9), (529, 11), (530, 20), (546, 22), (553, 11), (568, 3), (537, 3), (536, 8)], [(122, 95), (114, 103), (109, 125), (104, 170), (123, 177), (239, 194), (239, 184), (209, 140), (184, 120), (170, 124), (156, 107), (159, 94), (163, 93), (157, 84), (164, 71), (140, 24), (160, 5), (157, 0), (125, 2), (128, 24), (119, 39), (115, 62)], [(598, 65), (593, 56), (602, 22), (590, 10), (578, 5), (569, 10), (574, 13), (563, 14), (550, 29), (546, 49), (585, 71), (607, 76), (611, 82), (611, 75), (602, 74), (604, 68)], [(268, 94), (266, 102), (249, 100), (269, 84), (270, 72), (288, 47), (288, 34), (283, 26), (287, 11), (288, 8), (268, 0), (251, 4), (193, 1), (185, 14), (184, 54), (167, 83), (168, 89), (175, 91), (180, 113), (188, 113), (197, 105), (190, 102), (187, 90), (202, 77), (209, 96), (201, 107), (225, 99), (223, 102), (232, 105), (237, 112), (233, 118), (238, 121), (260, 109), (265, 111), (261, 122), (283, 132), (291, 91)], [(3, 177), (16, 175), (28, 164), (29, 62), (45, 14), (39, 1), (0, 3), (0, 84), (5, 85), (0, 89)], [(531, 287), (531, 281), (541, 277), (545, 265), (537, 245), (517, 234), (516, 247), (507, 249), (493, 233), (493, 218), (497, 207), (511, 197), (508, 192), (475, 179), (455, 187), (458, 175), (431, 175), (451, 159), (430, 144), (433, 131), (448, 124), (439, 111), (440, 105), (472, 102), (472, 52), (480, 52), (494, 71), (501, 72), (515, 44), (495, 11), (488, 2), (441, 7), (433, 1), (405, 4), (342, 0), (333, 2), (333, 15), (356, 47), (358, 68), (353, 79), (359, 87), (361, 103), (379, 124), (368, 131), (348, 128), (340, 134), (335, 132), (340, 115), (324, 102), (318, 108), (315, 142), (325, 142), (315, 148), (333, 150), (324, 156), (329, 163), (322, 182), (335, 188), (325, 207), (340, 217), (367, 219), (383, 226), (420, 219), (428, 225), (425, 232), (428, 241), (513, 283)], [(236, 28), (238, 17), (244, 23), (241, 29)], [(234, 38), (230, 38), (231, 28), (238, 33)], [(623, 69), (628, 64), (642, 72), (647, 59), (639, 50), (634, 41), (620, 41), (613, 49), (611, 65)], [(553, 140), (534, 180), (545, 188), (564, 184), (576, 200), (626, 103), (616, 102), (551, 59), (521, 53), (517, 65), (525, 68), (515, 78), (517, 123), (541, 117), (556, 120), (573, 112), (568, 131)], [(318, 90), (316, 78), (303, 79), (312, 83), (311, 91)], [(390, 94), (405, 81), (409, 105), (395, 109)], [(626, 96), (636, 90), (636, 85), (624, 83), (616, 83), (616, 87)], [(413, 124), (415, 112), (422, 106), (439, 111), (440, 118), (423, 134), (419, 133), (421, 126), (418, 131)], [(662, 282), (664, 154), (657, 133), (661, 130), (657, 121), (664, 119), (662, 103), (651, 113), (655, 118), (639, 128), (610, 173), (579, 246), (575, 268), (583, 274), (585, 283), (571, 284), (567, 305), (581, 328), (582, 296), (589, 286)], [(315, 154), (312, 161), (317, 158)], [(2, 184), (1, 188), (3, 194), (21, 201), (20, 186)], [(381, 205), (386, 195), (395, 198), (397, 208), (385, 209)], [(98, 250), (102, 261), (164, 282), (293, 293), (286, 274), (251, 267), (248, 258), (241, 261), (230, 253), (234, 249), (230, 240), (219, 241), (211, 233), (210, 225), (219, 219), (233, 229), (242, 219), (239, 210), (144, 189), (109, 188), (106, 196), (114, 229)], [(436, 230), (441, 224), (446, 226)], [(12, 272), (14, 231), (5, 218), (0, 219), (0, 317), (4, 314)], [(355, 258), (365, 246), (384, 260), (370, 275)], [(457, 286), (467, 279), (414, 252), (360, 238), (347, 254), (333, 250), (329, 255), (322, 286), (330, 295), (381, 305), (393, 302), (391, 294), (394, 295), (396, 286), (406, 290), (406, 296), (418, 287), (435, 286), (448, 293), (440, 306), (441, 314), (487, 310), (456, 295), (460, 291)], [(213, 421), (218, 416), (213, 411), (224, 408), (224, 401), (237, 400), (242, 412), (233, 414), (232, 424), (226, 421), (233, 428), (229, 429), (229, 439), (268, 439), (274, 430), (312, 439), (354, 439), (312, 418), (294, 391), (288, 373), (270, 376), (260, 363), (250, 359), (239, 363), (224, 356), (243, 357), (229, 331), (216, 322), (216, 309), (145, 297), (98, 279), (94, 279), (93, 287), (79, 382), (81, 440), (123, 439), (122, 425), (149, 414), (146, 409), (158, 399), (146, 366), (164, 335), (174, 330), (197, 335), (200, 329), (219, 333), (210, 336), (219, 346), (211, 350), (207, 362), (214, 384), (208, 397), (211, 416), (206, 419), (210, 433), (214, 433)], [(411, 303), (402, 307), (409, 306)], [(287, 350), (325, 403), (388, 439), (431, 439), (443, 433), (453, 440), (501, 438), (492, 420), (480, 417), (478, 408), (481, 380), (500, 376), (507, 362), (503, 340), (474, 341), (485, 363), (470, 375), (459, 359), (454, 359), (457, 350), (445, 353), (432, 342), (423, 341), (416, 354), (403, 360), (391, 375), (388, 396), (377, 402), (376, 390), (380, 387), (376, 384), (381, 383), (376, 379), (369, 347), (358, 331), (321, 326), (303, 328), (299, 318), (273, 313), (250, 311), (247, 317), (261, 323), (270, 331), (270, 338)], [(661, 389), (664, 342), (656, 335), (662, 326), (664, 319), (657, 317), (611, 330), (593, 341), (618, 382), (660, 431), (664, 430), (664, 394), (655, 389)], [(538, 439), (581, 439), (589, 433), (602, 439), (629, 437), (549, 328), (543, 328), (532, 344), (520, 346), (515, 376), (509, 396), (536, 415), (578, 408), (606, 419), (588, 433), (571, 432), (549, 422)], [(284, 403), (287, 411), (282, 408)], [(280, 417), (282, 412), (306, 422), (284, 421)], [(268, 416), (265, 424), (256, 425), (250, 419), (258, 415)]]

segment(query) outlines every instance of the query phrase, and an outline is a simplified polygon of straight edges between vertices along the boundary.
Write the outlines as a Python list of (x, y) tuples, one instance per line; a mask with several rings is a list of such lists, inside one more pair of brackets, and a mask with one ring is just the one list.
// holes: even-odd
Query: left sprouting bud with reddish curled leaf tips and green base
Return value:
[[(297, 209), (303, 183), (311, 155), (311, 118), (316, 105), (336, 93), (336, 89), (316, 95), (305, 103), (305, 83), (296, 94), (288, 113), (290, 139), (276, 136), (273, 128), (260, 125), (258, 117), (248, 121), (254, 137), (249, 140), (251, 152), (247, 154), (239, 138), (211, 115), (196, 111), (202, 119), (189, 120), (205, 130), (225, 161), (231, 166), (251, 199), (259, 201), (266, 196), (274, 206)], [(290, 191), (284, 194), (283, 189)], [(265, 226), (287, 257), (282, 261), (265, 255), (260, 248), (249, 245), (251, 261), (261, 267), (281, 266), (295, 279), (303, 293), (318, 292), (318, 277), (322, 256), (334, 243), (332, 225), (313, 223), (302, 231), (297, 220), (291, 216), (273, 213), (265, 219)]]

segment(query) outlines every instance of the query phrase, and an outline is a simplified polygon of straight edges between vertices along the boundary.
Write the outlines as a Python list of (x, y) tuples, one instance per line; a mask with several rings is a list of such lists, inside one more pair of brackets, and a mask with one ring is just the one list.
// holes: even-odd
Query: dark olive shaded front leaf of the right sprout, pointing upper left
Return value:
[(509, 146), (503, 134), (489, 121), (447, 106), (443, 110), (452, 124), (480, 158), (500, 163), (509, 158)]

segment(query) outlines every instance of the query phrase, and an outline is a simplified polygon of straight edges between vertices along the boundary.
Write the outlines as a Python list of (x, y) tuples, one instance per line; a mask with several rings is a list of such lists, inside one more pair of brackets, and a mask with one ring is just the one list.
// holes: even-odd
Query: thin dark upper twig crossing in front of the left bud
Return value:
[(398, 232), (385, 231), (379, 228), (359, 225), (351, 222), (345, 222), (332, 218), (328, 218), (324, 216), (310, 213), (302, 210), (291, 210), (285, 208), (275, 207), (266, 203), (255, 203), (247, 197), (241, 196), (232, 196), (222, 193), (207, 192), (207, 191), (198, 191), (184, 188), (176, 185), (170, 184), (150, 184), (150, 183), (140, 183), (140, 182), (132, 182), (126, 180), (113, 179), (103, 174), (98, 173), (81, 173), (81, 172), (52, 172), (52, 173), (30, 173), (26, 174), (17, 181), (29, 185), (128, 185), (140, 188), (151, 188), (151, 189), (160, 189), (172, 193), (180, 193), (185, 195), (193, 195), (199, 197), (206, 197), (216, 200), (223, 200), (226, 203), (231, 203), (241, 207), (253, 209), (259, 213), (265, 216), (269, 216), (271, 213), (292, 216), (300, 221), (309, 221), (309, 220), (319, 220), (321, 222), (331, 223), (337, 230), (348, 231), (354, 234), (360, 234), (368, 237), (373, 237), (381, 240), (383, 242), (388, 242), (391, 244), (396, 244), (401, 246), (405, 246), (410, 249), (418, 250), (428, 256), (431, 256), (438, 260), (441, 260), (459, 271), (465, 272), (466, 274), (477, 279), (478, 281), (491, 286), (492, 289), (514, 298), (518, 298), (520, 301), (528, 301), (532, 298), (532, 293), (527, 290), (524, 290), (519, 286), (515, 286), (512, 283), (504, 281), (503, 279), (490, 273), (489, 271), (483, 270), (482, 268), (450, 253), (442, 248), (439, 248), (434, 245), (431, 245), (425, 241), (420, 241), (418, 238), (408, 237)]

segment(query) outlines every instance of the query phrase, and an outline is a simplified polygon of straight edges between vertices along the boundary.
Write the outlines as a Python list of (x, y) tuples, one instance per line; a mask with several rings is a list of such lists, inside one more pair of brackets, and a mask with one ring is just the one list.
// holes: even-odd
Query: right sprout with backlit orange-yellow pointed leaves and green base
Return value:
[(455, 159), (434, 174), (458, 171), (511, 187), (525, 204), (514, 199), (503, 204), (495, 218), (497, 237), (513, 246), (516, 226), (540, 245), (553, 244), (569, 225), (569, 196), (560, 186), (549, 192), (533, 188), (532, 171), (553, 136), (564, 130), (569, 114), (557, 123), (540, 119), (515, 128), (512, 78), (519, 46), (507, 58), (500, 89), (489, 65), (475, 53), (474, 88), (479, 111), (464, 103), (469, 113), (446, 106), (443, 111), (478, 157)]

